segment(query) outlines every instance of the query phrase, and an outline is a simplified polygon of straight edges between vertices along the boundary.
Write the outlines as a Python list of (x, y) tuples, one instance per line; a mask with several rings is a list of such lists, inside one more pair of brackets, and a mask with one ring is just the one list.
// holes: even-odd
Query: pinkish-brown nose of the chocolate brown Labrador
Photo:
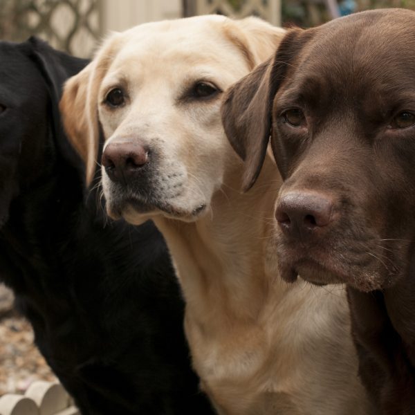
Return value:
[(302, 239), (333, 219), (333, 200), (317, 192), (288, 192), (279, 199), (275, 217), (285, 234)]

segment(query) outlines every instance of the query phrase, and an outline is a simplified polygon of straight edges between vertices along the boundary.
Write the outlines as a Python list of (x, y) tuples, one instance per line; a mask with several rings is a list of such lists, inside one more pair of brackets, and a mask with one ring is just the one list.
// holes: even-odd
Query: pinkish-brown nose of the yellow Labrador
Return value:
[(141, 173), (149, 161), (149, 149), (135, 142), (111, 142), (105, 147), (101, 163), (111, 181), (126, 185)]

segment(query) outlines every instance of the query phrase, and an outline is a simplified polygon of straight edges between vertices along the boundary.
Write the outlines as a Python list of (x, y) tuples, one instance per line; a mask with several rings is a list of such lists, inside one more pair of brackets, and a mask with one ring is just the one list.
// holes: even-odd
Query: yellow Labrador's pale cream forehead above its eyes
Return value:
[(225, 84), (232, 83), (248, 67), (245, 57), (227, 35), (226, 30), (232, 24), (226, 17), (209, 15), (131, 28), (118, 34), (108, 74), (148, 73), (156, 77), (174, 71), (180, 71), (180, 75), (220, 73)]

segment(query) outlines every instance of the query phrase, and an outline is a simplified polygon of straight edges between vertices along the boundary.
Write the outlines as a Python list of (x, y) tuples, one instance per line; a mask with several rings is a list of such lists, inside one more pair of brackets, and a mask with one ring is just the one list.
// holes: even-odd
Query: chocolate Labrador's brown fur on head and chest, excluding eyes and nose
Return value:
[[(288, 124), (288, 109), (305, 121)], [(379, 414), (415, 414), (415, 12), (376, 10), (291, 30), (236, 84), (225, 131), (255, 183), (269, 136), (284, 196), (331, 203), (328, 225), (275, 236), (282, 277), (346, 282), (360, 374)], [(278, 214), (277, 214), (278, 216)], [(311, 229), (311, 228), (310, 228)]]

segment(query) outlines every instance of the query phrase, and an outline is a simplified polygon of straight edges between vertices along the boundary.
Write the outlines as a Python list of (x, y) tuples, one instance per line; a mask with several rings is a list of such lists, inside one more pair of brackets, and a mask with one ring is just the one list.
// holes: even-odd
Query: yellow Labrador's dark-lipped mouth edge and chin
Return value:
[(168, 219), (178, 219), (193, 222), (208, 210), (206, 203), (196, 203), (189, 208), (178, 208), (174, 203), (165, 201), (140, 201), (139, 199), (124, 199), (122, 201), (107, 201), (107, 214), (112, 219), (125, 219), (133, 225), (140, 225), (154, 216), (162, 215)]

